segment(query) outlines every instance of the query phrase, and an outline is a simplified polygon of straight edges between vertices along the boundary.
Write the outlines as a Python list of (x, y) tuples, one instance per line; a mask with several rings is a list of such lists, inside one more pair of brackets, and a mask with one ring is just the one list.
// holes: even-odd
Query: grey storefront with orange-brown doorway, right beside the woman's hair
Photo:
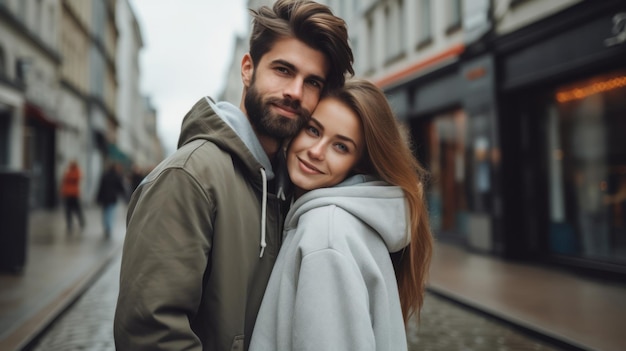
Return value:
[(483, 52), (386, 90), (430, 173), (437, 240), (488, 254), (503, 250), (495, 81), (494, 57)]

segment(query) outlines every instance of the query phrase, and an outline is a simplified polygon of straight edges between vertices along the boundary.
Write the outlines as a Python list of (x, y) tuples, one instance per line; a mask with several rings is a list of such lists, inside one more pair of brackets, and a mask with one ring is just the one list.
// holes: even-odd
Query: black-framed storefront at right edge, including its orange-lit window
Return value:
[(496, 57), (505, 253), (626, 274), (626, 4), (582, 2)]

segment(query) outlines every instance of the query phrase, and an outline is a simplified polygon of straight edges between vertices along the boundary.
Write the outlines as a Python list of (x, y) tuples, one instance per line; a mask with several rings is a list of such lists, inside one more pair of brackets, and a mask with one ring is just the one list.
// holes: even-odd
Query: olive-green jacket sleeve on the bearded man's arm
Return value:
[(202, 187), (177, 168), (134, 194), (114, 320), (118, 350), (201, 350), (190, 320), (211, 245), (210, 206)]

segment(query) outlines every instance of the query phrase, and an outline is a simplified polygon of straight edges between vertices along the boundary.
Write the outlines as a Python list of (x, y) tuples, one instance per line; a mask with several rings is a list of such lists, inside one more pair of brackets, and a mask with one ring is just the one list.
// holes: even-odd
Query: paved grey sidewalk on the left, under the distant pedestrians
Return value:
[[(86, 228), (66, 233), (62, 208), (29, 214), (26, 265), (0, 272), (0, 350), (20, 350), (93, 282), (121, 250), (126, 208), (104, 238), (100, 209), (85, 208)], [(75, 225), (75, 227), (78, 227)]]

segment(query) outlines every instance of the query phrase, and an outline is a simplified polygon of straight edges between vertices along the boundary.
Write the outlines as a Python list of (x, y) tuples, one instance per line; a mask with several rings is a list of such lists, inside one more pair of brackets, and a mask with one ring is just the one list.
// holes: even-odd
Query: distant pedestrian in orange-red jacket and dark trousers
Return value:
[(76, 215), (80, 228), (85, 228), (85, 216), (80, 204), (80, 181), (82, 173), (78, 162), (71, 160), (61, 180), (61, 197), (65, 205), (67, 233), (72, 233), (72, 217)]

